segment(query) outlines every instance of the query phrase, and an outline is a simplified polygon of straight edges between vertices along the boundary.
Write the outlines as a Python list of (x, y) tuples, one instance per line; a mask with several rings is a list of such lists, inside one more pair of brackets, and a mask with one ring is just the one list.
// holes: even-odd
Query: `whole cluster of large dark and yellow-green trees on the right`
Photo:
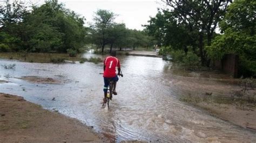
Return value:
[(237, 54), (239, 74), (256, 76), (255, 1), (162, 2), (166, 9), (158, 9), (145, 32), (157, 40), (164, 54), (193, 54), (206, 67), (225, 54)]

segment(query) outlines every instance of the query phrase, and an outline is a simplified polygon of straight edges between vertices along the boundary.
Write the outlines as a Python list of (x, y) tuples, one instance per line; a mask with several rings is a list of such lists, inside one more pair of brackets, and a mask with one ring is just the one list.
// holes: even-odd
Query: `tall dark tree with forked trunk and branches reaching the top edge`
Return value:
[(217, 1), (164, 1), (170, 6), (169, 12), (177, 18), (178, 24), (186, 26), (186, 30), (198, 33), (198, 48), (202, 65), (209, 66), (210, 60), (205, 51), (204, 38), (207, 46), (211, 45), (217, 24), (223, 18), (231, 0)]

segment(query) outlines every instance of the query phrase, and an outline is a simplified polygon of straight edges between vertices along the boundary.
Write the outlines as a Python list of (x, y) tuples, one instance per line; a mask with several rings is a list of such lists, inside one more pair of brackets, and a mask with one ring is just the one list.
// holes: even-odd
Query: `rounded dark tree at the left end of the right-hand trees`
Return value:
[(187, 47), (191, 46), (196, 52), (197, 34), (188, 31), (183, 23), (178, 23), (173, 12), (159, 10), (156, 17), (151, 18), (148, 22), (149, 25), (144, 25), (145, 32), (158, 41), (157, 45), (183, 49), (184, 52), (187, 52)]

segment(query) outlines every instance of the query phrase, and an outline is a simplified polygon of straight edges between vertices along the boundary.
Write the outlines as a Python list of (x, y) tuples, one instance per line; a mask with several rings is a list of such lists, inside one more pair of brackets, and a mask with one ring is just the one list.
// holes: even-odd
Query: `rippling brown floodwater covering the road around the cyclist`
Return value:
[[(0, 88), (77, 118), (112, 141), (256, 142), (255, 132), (180, 102), (178, 96), (183, 92), (179, 86), (184, 85), (180, 82), (193, 84), (193, 80), (172, 75), (172, 63), (139, 56), (120, 56), (120, 61), (124, 77), (119, 78), (118, 95), (113, 96), (109, 110), (102, 109), (102, 64), (0, 60), (0, 65), (16, 64), (15, 69), (1, 67), (0, 80), (9, 83), (0, 83)], [(22, 76), (51, 77), (63, 83), (30, 83), (19, 79)], [(209, 78), (200, 80), (209, 84), (206, 88), (224, 84)]]

